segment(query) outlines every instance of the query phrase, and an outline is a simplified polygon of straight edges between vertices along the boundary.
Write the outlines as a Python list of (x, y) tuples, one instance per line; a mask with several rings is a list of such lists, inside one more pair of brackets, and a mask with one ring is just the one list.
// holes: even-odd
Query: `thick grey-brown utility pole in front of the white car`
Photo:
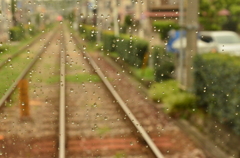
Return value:
[(187, 0), (186, 30), (186, 80), (185, 85), (188, 91), (193, 90), (193, 57), (197, 53), (197, 30), (198, 30), (198, 6), (199, 0)]

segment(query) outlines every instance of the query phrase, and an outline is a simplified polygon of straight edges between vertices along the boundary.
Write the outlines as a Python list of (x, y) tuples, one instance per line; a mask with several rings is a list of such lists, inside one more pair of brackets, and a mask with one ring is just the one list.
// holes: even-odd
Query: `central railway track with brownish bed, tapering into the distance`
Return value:
[[(134, 116), (136, 109), (131, 112), (125, 105), (128, 101), (121, 99), (116, 87), (107, 80), (119, 77), (111, 78), (101, 72), (95, 61), (102, 59), (96, 56), (91, 59), (82, 44), (79, 49), (78, 44), (82, 42), (64, 26), (58, 32), (47, 42), (48, 48), (43, 46), (41, 60), (21, 75), (31, 81), (29, 119), (21, 120), (17, 101), (8, 106), (4, 104), (8, 97), (1, 99), (2, 105), (8, 107), (0, 113), (0, 146), (3, 147), (0, 155), (8, 158), (172, 157), (166, 151), (172, 149), (168, 145), (172, 142), (159, 139), (165, 141), (165, 146), (161, 142), (156, 145), (156, 139), (154, 143), (150, 138), (151, 130), (145, 130), (142, 120)], [(16, 86), (17, 82), (9, 89)], [(171, 152), (178, 152), (174, 156), (179, 158), (183, 154)], [(203, 153), (196, 155), (204, 157)]]

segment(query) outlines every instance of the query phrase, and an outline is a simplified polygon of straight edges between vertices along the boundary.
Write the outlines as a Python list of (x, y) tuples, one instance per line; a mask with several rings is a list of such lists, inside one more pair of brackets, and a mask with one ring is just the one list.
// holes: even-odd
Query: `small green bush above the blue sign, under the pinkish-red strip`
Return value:
[(153, 26), (156, 27), (157, 30), (160, 30), (159, 35), (162, 40), (168, 39), (168, 33), (171, 29), (179, 29), (179, 25), (173, 21), (154, 21)]

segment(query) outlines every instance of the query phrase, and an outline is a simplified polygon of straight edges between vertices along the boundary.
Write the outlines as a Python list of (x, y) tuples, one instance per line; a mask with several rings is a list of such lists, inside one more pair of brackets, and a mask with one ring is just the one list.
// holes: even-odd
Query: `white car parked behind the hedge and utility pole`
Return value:
[[(186, 38), (182, 38), (182, 47), (186, 48)], [(180, 50), (180, 39), (173, 48)], [(226, 53), (240, 56), (240, 37), (233, 31), (202, 31), (197, 40), (198, 53)]]

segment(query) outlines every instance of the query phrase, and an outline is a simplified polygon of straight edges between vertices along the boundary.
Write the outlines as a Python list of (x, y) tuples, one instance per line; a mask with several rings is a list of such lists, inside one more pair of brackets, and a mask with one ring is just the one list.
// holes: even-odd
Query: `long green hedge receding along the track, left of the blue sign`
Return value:
[[(81, 25), (80, 34), (85, 35), (87, 40), (94, 41), (94, 36), (89, 32), (96, 32), (93, 27)], [(91, 37), (89, 37), (91, 35)], [(93, 39), (94, 37), (94, 39)], [(108, 52), (116, 52), (125, 62), (134, 67), (141, 67), (145, 54), (148, 52), (149, 42), (131, 35), (121, 34), (115, 37), (112, 31), (102, 33), (103, 49)]]

